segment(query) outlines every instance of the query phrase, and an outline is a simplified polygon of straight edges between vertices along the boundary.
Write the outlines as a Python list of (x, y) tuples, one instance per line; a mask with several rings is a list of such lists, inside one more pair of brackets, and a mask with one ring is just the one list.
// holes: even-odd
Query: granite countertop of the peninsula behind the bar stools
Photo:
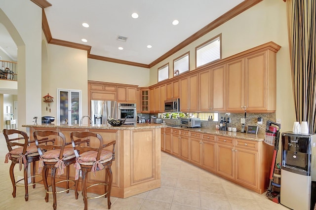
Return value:
[(38, 124), (38, 125), (22, 125), (22, 127), (37, 127), (37, 128), (74, 128), (74, 129), (108, 129), (108, 130), (138, 130), (138, 129), (153, 129), (153, 128), (165, 128), (166, 125), (162, 124), (151, 124), (151, 123), (141, 123), (136, 125), (121, 125), (121, 126), (111, 126), (111, 125), (55, 125), (55, 124)]

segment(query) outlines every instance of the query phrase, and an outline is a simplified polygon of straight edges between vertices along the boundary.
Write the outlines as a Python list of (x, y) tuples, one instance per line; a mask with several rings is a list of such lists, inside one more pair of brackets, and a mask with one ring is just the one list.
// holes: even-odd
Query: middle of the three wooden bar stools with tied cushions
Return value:
[[(53, 208), (57, 209), (57, 196), (56, 193), (66, 192), (69, 193), (69, 189), (74, 187), (75, 184), (69, 187), (69, 166), (76, 162), (76, 155), (74, 153), (73, 147), (65, 147), (66, 138), (64, 134), (57, 131), (35, 131), (34, 132), (35, 144), (38, 146), (38, 149), (43, 148), (46, 150), (45, 153), (40, 152), (40, 162), (39, 162), (39, 173), (42, 173), (43, 183), (45, 186), (45, 201), (48, 202), (48, 194), (53, 194)], [(55, 145), (55, 142), (58, 142), (59, 145)], [(45, 145), (41, 143), (45, 142)], [(69, 143), (70, 144), (70, 143)], [(55, 181), (56, 174), (63, 175), (64, 169), (66, 168), (66, 180)], [(48, 171), (51, 169), (51, 185), (48, 186), (47, 178)], [(56, 173), (57, 172), (57, 173)], [(56, 184), (66, 182), (66, 189), (56, 192)], [(51, 192), (49, 187), (52, 188)], [(76, 195), (78, 198), (78, 194)]]

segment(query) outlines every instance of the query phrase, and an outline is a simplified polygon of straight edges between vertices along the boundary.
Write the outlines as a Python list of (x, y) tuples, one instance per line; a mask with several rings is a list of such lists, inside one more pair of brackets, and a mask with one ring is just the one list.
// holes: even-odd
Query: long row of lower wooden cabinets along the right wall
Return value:
[(273, 147), (264, 141), (165, 128), (163, 151), (260, 194), (269, 186)]

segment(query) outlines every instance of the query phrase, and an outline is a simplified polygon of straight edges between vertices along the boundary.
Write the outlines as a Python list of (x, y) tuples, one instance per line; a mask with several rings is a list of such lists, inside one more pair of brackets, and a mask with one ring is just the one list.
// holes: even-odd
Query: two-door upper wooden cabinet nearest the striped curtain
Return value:
[(227, 63), (226, 110), (276, 110), (276, 52), (267, 49)]

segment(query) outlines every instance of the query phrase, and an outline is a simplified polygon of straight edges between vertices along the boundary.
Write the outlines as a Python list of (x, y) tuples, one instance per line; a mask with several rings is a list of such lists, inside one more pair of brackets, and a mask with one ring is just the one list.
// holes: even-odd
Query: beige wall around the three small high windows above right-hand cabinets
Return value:
[(152, 67), (150, 85), (157, 83), (158, 67), (168, 62), (172, 77), (173, 59), (185, 52), (190, 51), (190, 70), (194, 70), (195, 47), (216, 35), (222, 34), (222, 58), (274, 41), (281, 46), (277, 53), (276, 118), (281, 120), (282, 131), (292, 130), (295, 113), (286, 26), (286, 4), (281, 0), (264, 0)]

